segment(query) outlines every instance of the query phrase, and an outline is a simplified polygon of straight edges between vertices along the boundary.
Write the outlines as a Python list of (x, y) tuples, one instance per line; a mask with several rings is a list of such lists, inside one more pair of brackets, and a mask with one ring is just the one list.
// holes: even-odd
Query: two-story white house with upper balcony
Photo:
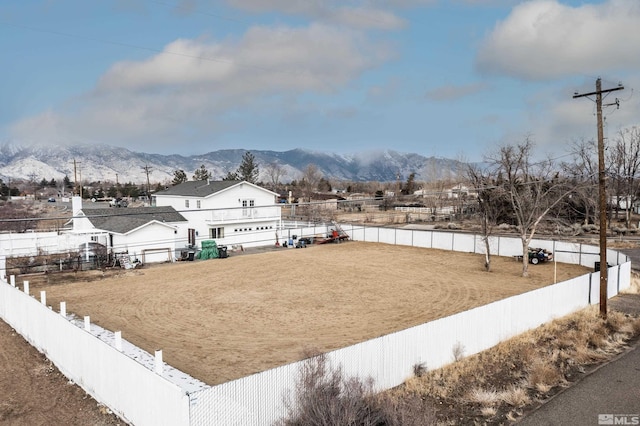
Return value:
[(173, 207), (187, 219), (180, 230), (187, 246), (202, 240), (218, 245), (276, 243), (281, 225), (278, 194), (245, 181), (188, 181), (156, 192), (151, 205)]

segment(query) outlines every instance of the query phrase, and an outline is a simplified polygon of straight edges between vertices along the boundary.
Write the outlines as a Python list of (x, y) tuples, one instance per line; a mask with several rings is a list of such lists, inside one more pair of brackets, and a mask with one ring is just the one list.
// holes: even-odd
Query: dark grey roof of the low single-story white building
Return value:
[(186, 222), (173, 207), (139, 207), (83, 210), (91, 224), (105, 231), (126, 234), (149, 222)]

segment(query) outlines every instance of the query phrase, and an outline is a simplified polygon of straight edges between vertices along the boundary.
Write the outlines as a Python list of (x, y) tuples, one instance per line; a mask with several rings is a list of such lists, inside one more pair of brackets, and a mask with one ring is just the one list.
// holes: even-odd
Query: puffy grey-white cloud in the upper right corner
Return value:
[(486, 37), (478, 68), (528, 80), (640, 69), (640, 2), (571, 7), (556, 0), (516, 6)]

